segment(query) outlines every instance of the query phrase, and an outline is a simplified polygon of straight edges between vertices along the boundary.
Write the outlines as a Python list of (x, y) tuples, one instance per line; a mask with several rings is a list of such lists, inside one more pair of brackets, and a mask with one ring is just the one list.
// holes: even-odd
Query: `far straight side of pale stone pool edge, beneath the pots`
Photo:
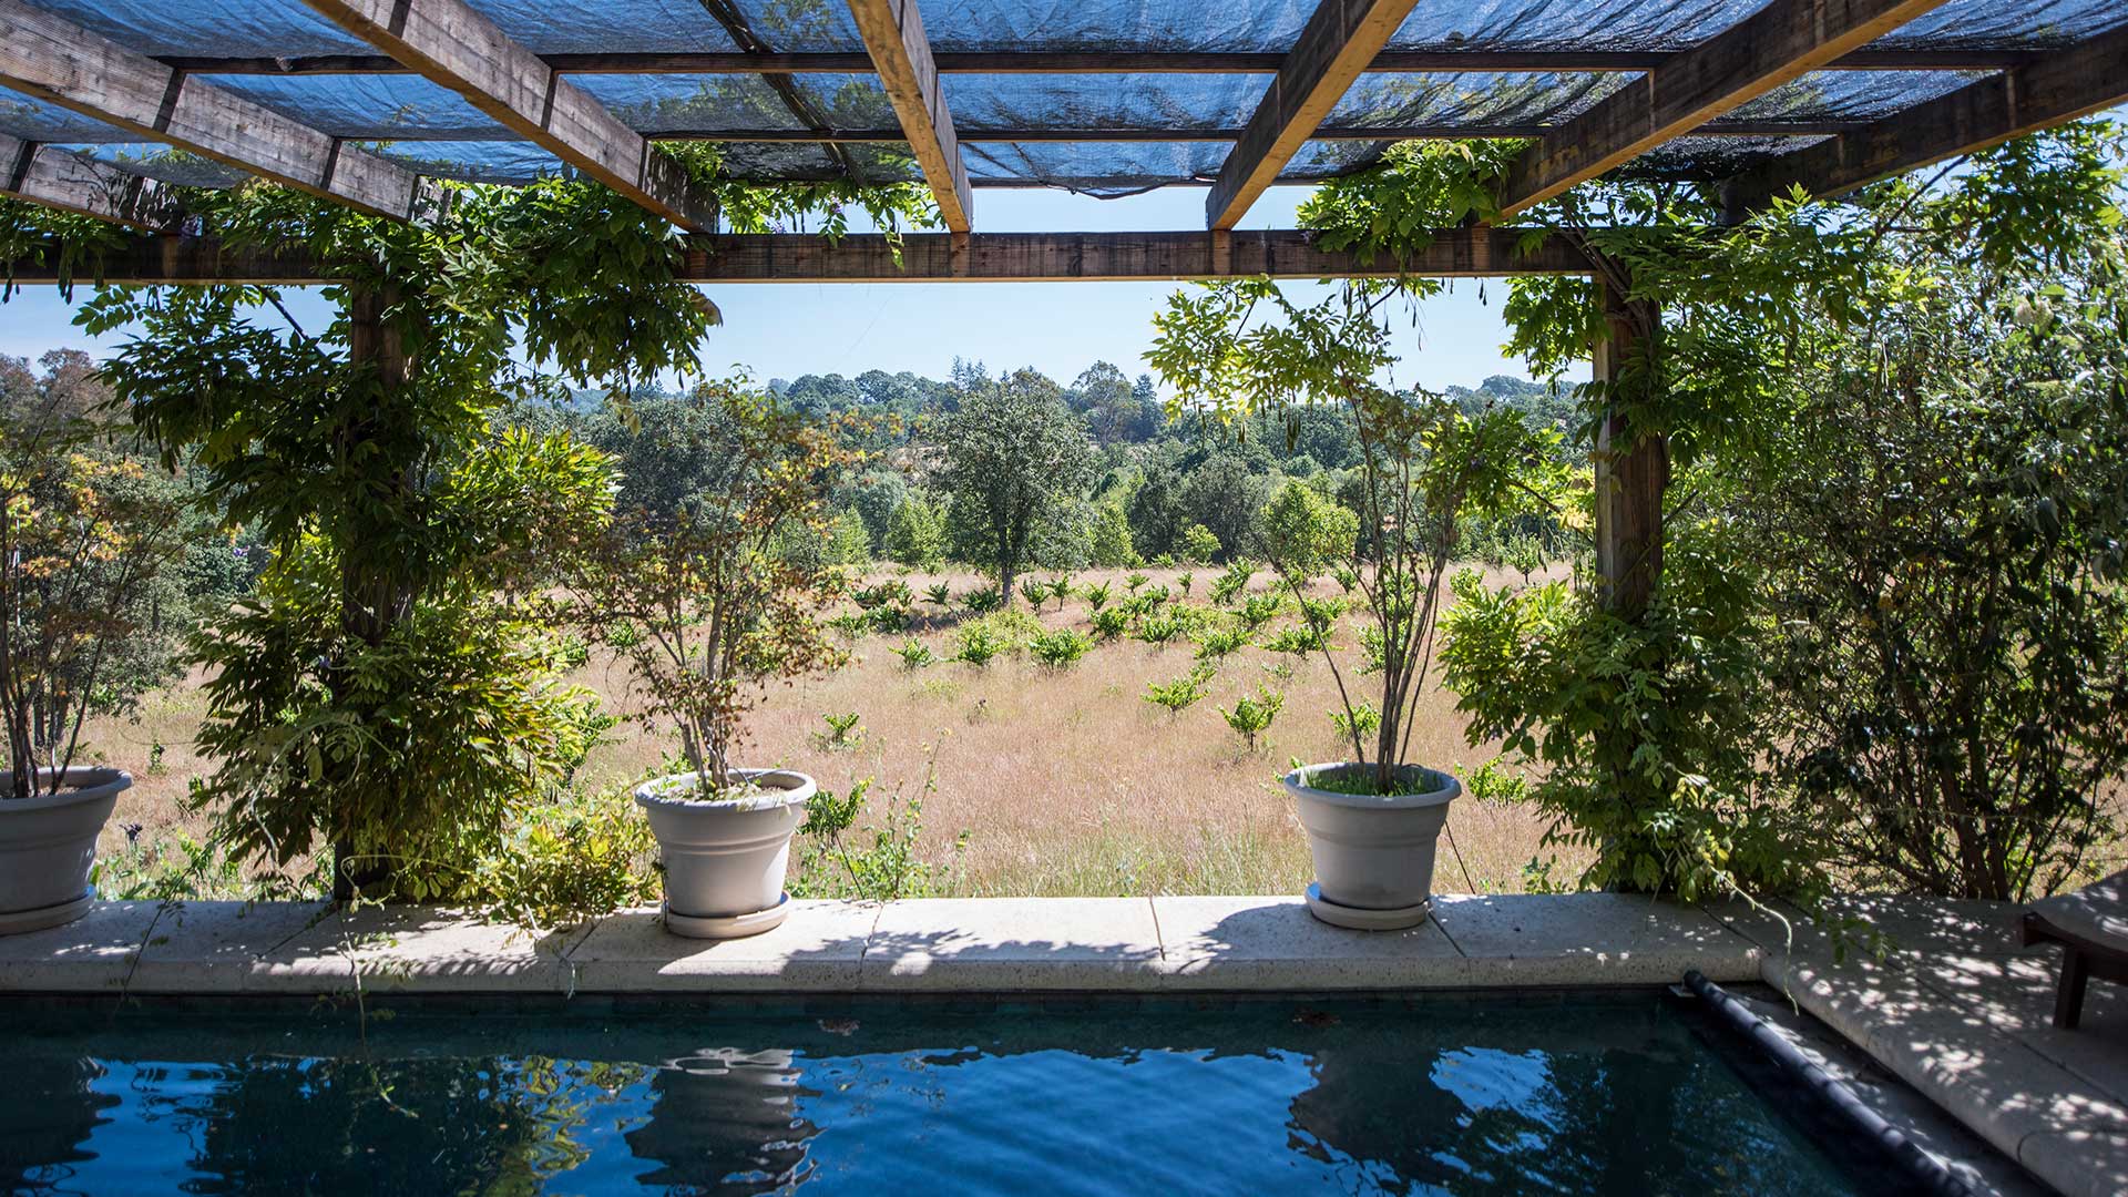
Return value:
[(526, 931), (436, 907), (98, 903), (0, 939), (0, 993), (1194, 993), (1758, 980), (1705, 909), (1626, 895), (1436, 899), (1411, 931), (1326, 927), (1296, 897), (800, 901), (751, 939), (664, 933), (655, 909)]

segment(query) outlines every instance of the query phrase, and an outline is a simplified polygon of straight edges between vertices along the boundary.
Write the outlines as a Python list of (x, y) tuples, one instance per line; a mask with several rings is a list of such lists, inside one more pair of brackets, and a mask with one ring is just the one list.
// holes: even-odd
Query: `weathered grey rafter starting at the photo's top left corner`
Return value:
[(0, 83), (368, 213), (411, 219), (432, 198), (396, 162), (21, 0), (0, 0)]

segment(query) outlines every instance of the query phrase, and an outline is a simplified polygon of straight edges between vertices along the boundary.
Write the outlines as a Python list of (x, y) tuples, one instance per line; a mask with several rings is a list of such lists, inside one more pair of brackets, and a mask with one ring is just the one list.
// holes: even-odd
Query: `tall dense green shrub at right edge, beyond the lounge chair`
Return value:
[(1919, 251), (1749, 462), (1770, 782), (1868, 886), (2026, 901), (2113, 843), (2128, 771), (2128, 253)]

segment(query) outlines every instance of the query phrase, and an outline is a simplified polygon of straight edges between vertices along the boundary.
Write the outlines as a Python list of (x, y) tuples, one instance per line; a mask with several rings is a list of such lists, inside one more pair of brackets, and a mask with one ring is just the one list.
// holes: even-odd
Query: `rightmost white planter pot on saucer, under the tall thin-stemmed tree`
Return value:
[(1407, 767), (1411, 794), (1341, 794), (1302, 782), (1321, 773), (1349, 773), (1373, 765), (1309, 765), (1285, 775), (1285, 790), (1300, 807), (1300, 826), (1315, 856), (1309, 909), (1324, 922), (1364, 931), (1392, 931), (1426, 922), (1434, 884), (1434, 843), (1462, 794), (1456, 777)]

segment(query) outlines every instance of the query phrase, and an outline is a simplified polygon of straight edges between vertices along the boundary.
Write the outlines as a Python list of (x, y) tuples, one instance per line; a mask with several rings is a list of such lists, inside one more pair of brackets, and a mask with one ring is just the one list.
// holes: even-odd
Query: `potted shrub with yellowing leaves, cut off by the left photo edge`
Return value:
[(77, 765), (81, 724), (132, 705), (172, 656), (149, 624), (179, 552), (174, 483), (98, 432), (57, 386), (0, 392), (0, 935), (87, 914), (96, 839), (132, 775)]

